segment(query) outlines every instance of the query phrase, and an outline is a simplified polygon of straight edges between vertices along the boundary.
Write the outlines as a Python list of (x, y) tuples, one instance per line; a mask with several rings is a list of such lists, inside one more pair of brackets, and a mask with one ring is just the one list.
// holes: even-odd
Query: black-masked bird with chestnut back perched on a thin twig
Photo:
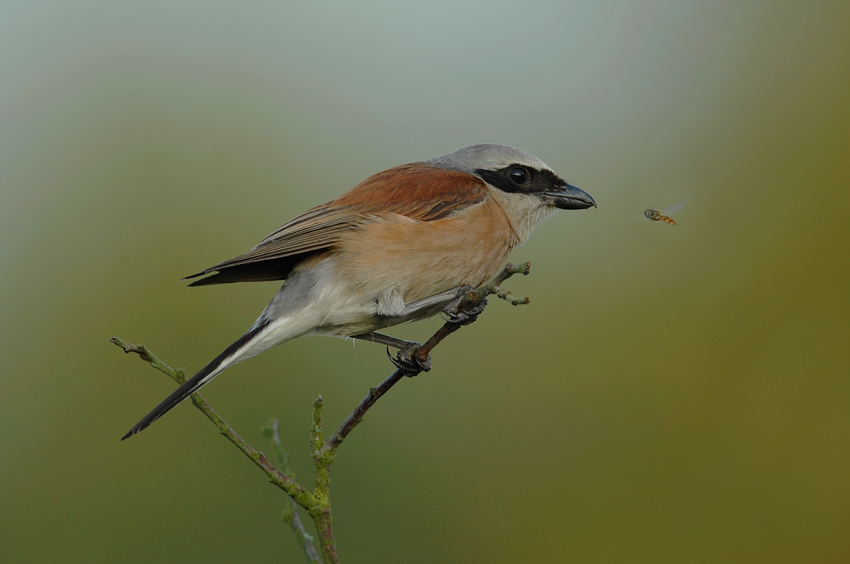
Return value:
[(377, 331), (443, 311), (492, 278), (558, 210), (596, 207), (534, 155), (463, 147), (374, 174), (189, 286), (283, 281), (248, 331), (134, 425), (131, 437), (226, 368), (303, 335), (407, 343)]

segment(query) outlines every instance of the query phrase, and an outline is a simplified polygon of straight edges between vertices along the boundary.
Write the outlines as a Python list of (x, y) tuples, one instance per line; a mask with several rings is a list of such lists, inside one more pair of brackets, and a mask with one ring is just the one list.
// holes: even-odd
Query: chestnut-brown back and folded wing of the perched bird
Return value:
[(484, 200), (486, 185), (476, 176), (412, 163), (375, 174), (336, 200), (310, 209), (269, 234), (237, 257), (192, 274), (184, 280), (216, 272), (190, 286), (230, 282), (283, 280), (303, 258), (332, 250), (346, 232), (401, 215), (416, 221), (438, 221)]

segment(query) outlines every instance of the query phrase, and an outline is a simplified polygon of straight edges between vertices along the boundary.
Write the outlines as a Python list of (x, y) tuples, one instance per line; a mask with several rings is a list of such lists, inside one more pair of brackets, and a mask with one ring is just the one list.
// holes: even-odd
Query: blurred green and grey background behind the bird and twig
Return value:
[[(342, 447), (342, 561), (850, 561), (848, 29), (843, 1), (3, 2), (0, 561), (302, 561), (190, 405), (118, 441), (173, 383), (107, 338), (197, 370), (277, 284), (179, 277), (483, 142), (599, 209)], [(305, 338), (204, 395), (266, 450), (280, 418), (312, 485), (312, 400), (335, 427), (390, 368)]]

